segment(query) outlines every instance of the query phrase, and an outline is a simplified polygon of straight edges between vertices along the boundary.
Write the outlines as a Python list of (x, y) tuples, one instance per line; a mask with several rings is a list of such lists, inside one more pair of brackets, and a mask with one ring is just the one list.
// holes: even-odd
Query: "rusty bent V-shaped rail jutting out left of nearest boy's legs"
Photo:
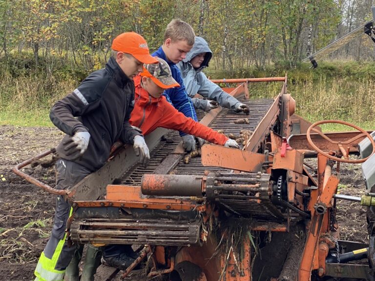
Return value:
[(56, 194), (56, 195), (66, 195), (67, 194), (67, 190), (58, 190), (58, 189), (55, 189), (51, 186), (49, 186), (48, 184), (45, 184), (43, 183), (42, 181), (38, 181), (37, 179), (29, 176), (29, 175), (26, 175), (25, 173), (21, 172), (20, 169), (22, 169), (23, 167), (26, 167), (27, 165), (31, 164), (32, 162), (34, 161), (37, 161), (39, 159), (42, 159), (43, 157), (46, 157), (47, 155), (51, 154), (51, 153), (55, 153), (56, 152), (56, 148), (51, 148), (47, 151), (44, 151), (42, 152), (41, 154), (38, 154), (37, 156), (33, 157), (33, 158), (30, 158), (26, 161), (23, 161), (21, 162), (20, 164), (16, 165), (14, 168), (13, 168), (13, 172), (20, 176), (21, 178), (25, 179), (26, 181), (28, 182), (31, 182), (32, 184), (35, 184), (36, 186), (39, 186), (41, 187), (42, 189), (44, 189), (45, 191), (51, 193), (51, 194)]

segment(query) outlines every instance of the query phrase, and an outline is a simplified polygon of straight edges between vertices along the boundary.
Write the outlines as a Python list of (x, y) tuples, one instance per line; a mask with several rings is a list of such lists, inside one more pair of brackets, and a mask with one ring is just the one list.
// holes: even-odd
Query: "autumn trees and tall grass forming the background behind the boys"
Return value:
[[(151, 51), (180, 18), (213, 52), (212, 79), (285, 76), (297, 114), (374, 129), (375, 44), (363, 35), (319, 62), (301, 60), (372, 18), (372, 0), (0, 0), (0, 124), (52, 126), (51, 105), (104, 67), (111, 40)], [(273, 97), (280, 83), (250, 85)], [(337, 129), (337, 128), (329, 128)]]

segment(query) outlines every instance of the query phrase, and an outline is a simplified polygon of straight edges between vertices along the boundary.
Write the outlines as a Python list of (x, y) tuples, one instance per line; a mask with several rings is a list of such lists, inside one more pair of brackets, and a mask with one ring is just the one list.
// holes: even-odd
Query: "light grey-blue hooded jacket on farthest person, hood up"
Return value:
[[(203, 60), (200, 68), (195, 69), (190, 60), (201, 53), (206, 53), (205, 60)], [(218, 85), (208, 80), (207, 76), (202, 72), (202, 69), (208, 67), (208, 62), (211, 60), (212, 52), (208, 48), (206, 40), (202, 37), (195, 37), (194, 46), (190, 52), (187, 53), (186, 59), (180, 61), (177, 67), (181, 71), (182, 79), (186, 92), (190, 98), (195, 94), (199, 94), (208, 100), (215, 100), (222, 107), (236, 110), (241, 103), (237, 99), (224, 92)], [(200, 99), (192, 99), (196, 109), (205, 110), (206, 102), (202, 103)]]

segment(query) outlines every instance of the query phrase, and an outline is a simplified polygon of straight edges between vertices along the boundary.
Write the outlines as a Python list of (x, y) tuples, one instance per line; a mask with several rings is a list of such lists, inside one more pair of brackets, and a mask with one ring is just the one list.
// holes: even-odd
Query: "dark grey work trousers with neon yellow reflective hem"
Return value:
[[(81, 181), (91, 171), (65, 159), (56, 162), (56, 189), (68, 189)], [(76, 245), (66, 241), (66, 221), (72, 215), (72, 207), (61, 195), (56, 197), (56, 211), (51, 236), (34, 271), (35, 281), (63, 281), (65, 268), (71, 261)]]

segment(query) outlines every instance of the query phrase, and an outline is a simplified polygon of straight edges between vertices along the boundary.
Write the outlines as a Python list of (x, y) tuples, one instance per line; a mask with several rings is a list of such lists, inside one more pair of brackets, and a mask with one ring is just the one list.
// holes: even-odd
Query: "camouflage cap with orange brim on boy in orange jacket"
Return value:
[(149, 77), (156, 85), (163, 89), (180, 87), (180, 84), (172, 77), (172, 72), (167, 61), (155, 57), (158, 63), (144, 64), (141, 76)]

